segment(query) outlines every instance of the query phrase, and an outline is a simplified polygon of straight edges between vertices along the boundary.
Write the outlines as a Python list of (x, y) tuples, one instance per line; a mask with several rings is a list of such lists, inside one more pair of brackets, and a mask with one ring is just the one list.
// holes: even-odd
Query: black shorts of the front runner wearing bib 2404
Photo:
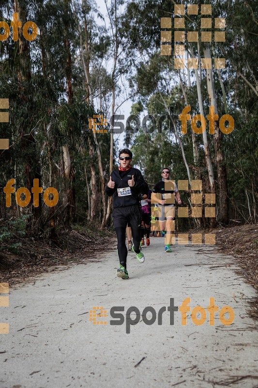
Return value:
[(132, 228), (141, 226), (141, 211), (139, 205), (125, 206), (113, 210), (114, 228), (126, 227), (129, 224)]

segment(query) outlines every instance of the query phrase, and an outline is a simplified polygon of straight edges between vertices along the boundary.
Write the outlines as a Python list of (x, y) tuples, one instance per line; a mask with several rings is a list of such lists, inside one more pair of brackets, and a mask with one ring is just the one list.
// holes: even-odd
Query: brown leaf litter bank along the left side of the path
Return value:
[[(62, 271), (71, 264), (98, 261), (103, 256), (99, 246), (106, 250), (114, 249), (115, 235), (108, 231), (97, 230), (93, 235), (87, 229), (61, 232), (57, 242), (49, 239), (34, 240), (21, 238), (17, 254), (0, 251), (0, 282), (9, 286), (31, 281), (36, 275), (46, 272)], [(17, 242), (15, 240), (15, 242)]]

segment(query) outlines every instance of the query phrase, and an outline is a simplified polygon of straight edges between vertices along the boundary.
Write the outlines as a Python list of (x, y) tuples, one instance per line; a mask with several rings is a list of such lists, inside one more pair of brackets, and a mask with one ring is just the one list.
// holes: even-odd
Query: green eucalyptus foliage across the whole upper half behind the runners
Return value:
[[(186, 105), (182, 86), (187, 103), (191, 106), (191, 115), (198, 114), (194, 72), (190, 70), (189, 80), (187, 71), (181, 72), (181, 86), (179, 74), (174, 70), (173, 55), (160, 55), (160, 17), (171, 15), (171, 1), (127, 1), (122, 8), (122, 16), (117, 19), (116, 36), (112, 36), (106, 26), (96, 23), (95, 16), (105, 20), (93, 0), (32, 0), (30, 6), (25, 1), (20, 3), (23, 13), (27, 13), (28, 20), (36, 22), (40, 33), (35, 41), (28, 44), (22, 55), (19, 41), (14, 42), (10, 37), (0, 42), (0, 97), (9, 98), (10, 102), (10, 121), (1, 123), (0, 138), (10, 139), (11, 145), (8, 150), (0, 150), (1, 186), (10, 178), (15, 178), (16, 190), (18, 187), (28, 187), (32, 178), (39, 178), (44, 189), (51, 182), (60, 193), (61, 208), (66, 184), (63, 178), (62, 146), (68, 145), (73, 168), (73, 182), (69, 183), (75, 193), (76, 216), (81, 221), (88, 217), (91, 166), (95, 168), (98, 185), (101, 178), (96, 155), (97, 145), (92, 131), (89, 130), (89, 117), (96, 113), (103, 113), (107, 117), (110, 112), (112, 81), (109, 65), (105, 68), (104, 63), (112, 57), (113, 45), (121, 45), (118, 67), (119, 71), (126, 75), (135, 98), (132, 114), (140, 115), (147, 111), (158, 122), (160, 116), (167, 115), (165, 101), (168, 107), (175, 107), (175, 113), (178, 115)], [(117, 3), (124, 4), (122, 0)], [(195, 1), (191, 0), (190, 3)], [(207, 0), (206, 3), (210, 2)], [(2, 1), (1, 19), (6, 17), (9, 23), (12, 14), (13, 1)], [(256, 1), (212, 1), (212, 15), (226, 17), (226, 42), (211, 45), (213, 57), (226, 58), (226, 68), (220, 72), (225, 87), (225, 99), (218, 73), (213, 71), (218, 113), (221, 117), (228, 111), (235, 120), (235, 129), (230, 135), (223, 135), (221, 144), (228, 178), (229, 212), (232, 218), (254, 221), (256, 216), (250, 216), (248, 201), (252, 214), (255, 214), (258, 156), (258, 103), (254, 92), (254, 89), (257, 90), (258, 63)], [(113, 2), (110, 16), (114, 23)], [(188, 30), (200, 31), (200, 15), (187, 17), (185, 23)], [(88, 52), (85, 48), (86, 38)], [(201, 57), (203, 48), (203, 43), (200, 42)], [(194, 50), (196, 49), (197, 45), (194, 46)], [(89, 61), (89, 86), (95, 95), (99, 96), (95, 98), (99, 107), (96, 103), (95, 106), (91, 104), (89, 99), (82, 56)], [(119, 81), (119, 71), (115, 73), (116, 96), (120, 96), (124, 91), (127, 93)], [(69, 80), (71, 90), (68, 96)], [(201, 70), (201, 93), (207, 115), (210, 102), (204, 69)], [(206, 187), (208, 172), (202, 136), (195, 136), (199, 158), (194, 161), (190, 123), (188, 122), (187, 134), (182, 135), (178, 117), (174, 117), (174, 120), (190, 173), (192, 177), (197, 174)], [(96, 137), (106, 178), (109, 176), (109, 133), (96, 134)], [(213, 137), (209, 134), (208, 143), (217, 190), (217, 155)], [(169, 118), (165, 119), (162, 125), (159, 124), (152, 133), (145, 133), (142, 129), (137, 134), (127, 131), (125, 145), (132, 146), (134, 163), (142, 169), (150, 185), (161, 178), (160, 172), (164, 166), (171, 170), (171, 178), (176, 181), (187, 179), (182, 150)], [(116, 155), (116, 149), (114, 154)], [(103, 209), (100, 195), (98, 201), (97, 217), (101, 219)], [(36, 221), (37, 230), (44, 233), (51, 218), (49, 209), (40, 206), (39, 209), (31, 207), (30, 210), (28, 223), (31, 220)], [(1, 202), (0, 215), (4, 219), (10, 218), (15, 211), (14, 205), (10, 209), (4, 209)], [(55, 213), (57, 230), (62, 226), (62, 211), (61, 208)], [(15, 224), (12, 225), (12, 222)], [(27, 225), (23, 221), (11, 221), (8, 227), (3, 226), (1, 241), (10, 241), (15, 230), (22, 236)], [(7, 228), (4, 229), (5, 227)], [(35, 230), (36, 228), (33, 229), (34, 233)], [(17, 249), (18, 246), (13, 248)]]

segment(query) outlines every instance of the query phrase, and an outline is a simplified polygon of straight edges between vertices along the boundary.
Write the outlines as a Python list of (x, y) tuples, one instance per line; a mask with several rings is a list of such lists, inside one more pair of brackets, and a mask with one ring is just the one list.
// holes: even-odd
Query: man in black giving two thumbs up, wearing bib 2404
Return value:
[(148, 194), (148, 185), (144, 181), (141, 172), (132, 167), (132, 152), (124, 148), (119, 153), (120, 166), (112, 171), (109, 182), (106, 185), (106, 194), (113, 195), (113, 221), (117, 234), (117, 249), (120, 268), (117, 276), (128, 279), (126, 270), (127, 247), (125, 244), (125, 230), (129, 223), (132, 230), (133, 246), (136, 258), (140, 263), (144, 262), (144, 255), (140, 251), (141, 240), (141, 213), (139, 206), (139, 194)]

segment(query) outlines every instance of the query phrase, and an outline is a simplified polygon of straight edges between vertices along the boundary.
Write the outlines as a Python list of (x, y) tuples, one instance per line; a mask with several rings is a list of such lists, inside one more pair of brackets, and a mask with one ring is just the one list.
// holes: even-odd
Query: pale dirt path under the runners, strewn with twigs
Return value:
[[(0, 307), (0, 322), (9, 323), (9, 334), (0, 335), (0, 388), (257, 387), (258, 331), (246, 314), (255, 290), (234, 273), (234, 259), (213, 254), (211, 246), (176, 245), (165, 254), (163, 243), (152, 238), (144, 264), (129, 255), (129, 280), (116, 278), (112, 251), (11, 289), (9, 307)], [(206, 322), (197, 326), (188, 312), (182, 326), (175, 311), (172, 325), (166, 309), (158, 325), (158, 311), (170, 298), (180, 306), (187, 297), (191, 311), (205, 308)], [(209, 325), (212, 297), (219, 310), (233, 308), (231, 325), (218, 312)], [(90, 322), (94, 306), (106, 309), (107, 317), (96, 321), (107, 324)], [(142, 313), (151, 306), (157, 319), (147, 325), (140, 316), (130, 325), (128, 316), (111, 325), (110, 308), (117, 306), (123, 317), (129, 307)]]

